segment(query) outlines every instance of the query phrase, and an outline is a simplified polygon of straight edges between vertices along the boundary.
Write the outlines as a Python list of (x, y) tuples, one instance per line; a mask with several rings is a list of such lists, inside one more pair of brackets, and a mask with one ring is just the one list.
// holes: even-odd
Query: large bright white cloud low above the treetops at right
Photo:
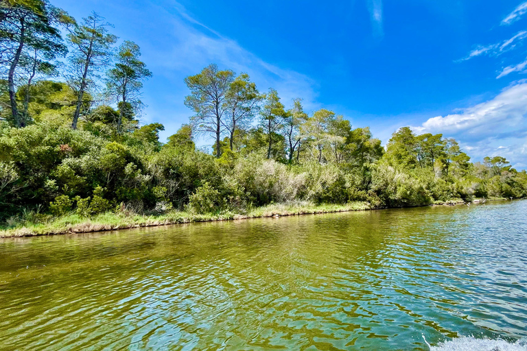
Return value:
[(502, 155), (516, 165), (524, 165), (527, 164), (526, 115), (527, 81), (521, 80), (489, 101), (430, 118), (412, 129), (457, 138), (476, 159)]

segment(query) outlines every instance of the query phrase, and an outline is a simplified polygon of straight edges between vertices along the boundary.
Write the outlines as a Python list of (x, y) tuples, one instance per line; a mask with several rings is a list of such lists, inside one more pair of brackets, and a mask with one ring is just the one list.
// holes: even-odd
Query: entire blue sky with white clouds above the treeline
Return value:
[[(141, 123), (172, 135), (192, 112), (184, 78), (215, 63), (283, 104), (333, 110), (384, 144), (398, 128), (456, 138), (473, 161), (527, 168), (527, 2), (521, 0), (51, 0), (95, 10), (141, 47)], [(204, 143), (211, 143), (205, 141)]]

